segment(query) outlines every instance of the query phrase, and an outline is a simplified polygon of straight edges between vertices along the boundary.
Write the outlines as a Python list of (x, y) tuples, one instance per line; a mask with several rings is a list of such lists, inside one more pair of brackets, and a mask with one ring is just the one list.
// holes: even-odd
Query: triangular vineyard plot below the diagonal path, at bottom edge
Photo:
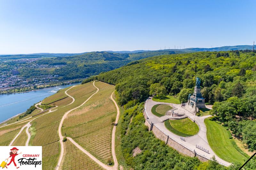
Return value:
[(70, 170), (70, 169), (103, 169), (96, 162), (94, 162), (90, 157), (88, 157), (84, 152), (79, 150), (74, 144), (69, 140), (64, 142), (64, 157), (62, 159), (62, 164), (60, 170)]

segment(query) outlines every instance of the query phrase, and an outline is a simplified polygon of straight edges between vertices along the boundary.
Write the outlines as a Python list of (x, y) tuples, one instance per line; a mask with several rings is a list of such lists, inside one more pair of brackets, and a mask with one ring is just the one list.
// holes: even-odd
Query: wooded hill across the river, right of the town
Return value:
[[(176, 51), (176, 53), (182, 52)], [(37, 60), (35, 63), (29, 63), (30, 65), (47, 64), (52, 67), (54, 67), (54, 65), (64, 65), (63, 67), (54, 69), (53, 71), (38, 70), (31, 67), (27, 68), (26, 64), (20, 65), (22, 67), (20, 67), (19, 71), (20, 75), (26, 78), (52, 74), (59, 75), (59, 80), (71, 80), (76, 78), (86, 78), (92, 75), (98, 75), (100, 72), (119, 68), (132, 61), (163, 54), (175, 54), (175, 51), (148, 51), (132, 54), (97, 51), (71, 56), (60, 55), (56, 57), (42, 58), (40, 60)], [(10, 67), (11, 65), (5, 66), (5, 68)], [(1, 68), (2, 67), (0, 67), (0, 69)]]

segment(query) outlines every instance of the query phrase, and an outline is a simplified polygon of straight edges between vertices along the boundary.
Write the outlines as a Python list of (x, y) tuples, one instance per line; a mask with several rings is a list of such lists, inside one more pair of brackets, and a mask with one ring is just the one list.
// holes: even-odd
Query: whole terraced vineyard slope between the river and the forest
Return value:
[[(68, 112), (69, 114), (64, 119), (62, 124), (63, 136), (71, 137), (87, 153), (69, 140), (66, 141), (63, 148), (64, 157), (60, 159), (62, 160), (60, 169), (113, 168), (104, 164), (114, 163), (111, 151), (111, 137), (114, 127), (113, 122), (116, 119), (116, 106), (110, 96), (115, 87), (103, 82), (95, 82), (95, 86), (99, 88), (97, 93), (93, 82), (60, 90), (44, 99), (44, 105), (38, 106), (45, 107), (45, 104), (48, 103), (50, 106), (56, 106), (55, 108), (48, 109), (43, 113), (36, 109), (22, 118), (21, 122), (14, 121), (14, 119), (5, 122), (2, 125), (6, 126), (0, 128), (0, 145), (9, 145), (19, 132), (21, 133), (13, 141), (12, 145), (26, 145), (28, 140), (27, 128), (22, 131), (20, 129), (31, 121), (31, 127), (29, 128), (31, 138), (28, 144), (42, 146), (43, 169), (55, 169), (61, 151), (58, 133), (60, 121), (65, 113), (76, 108), (70, 113)], [(89, 99), (90, 96), (92, 97)], [(98, 162), (88, 152), (98, 159)], [(99, 163), (99, 161), (102, 163)], [(115, 165), (117, 166), (116, 163)]]

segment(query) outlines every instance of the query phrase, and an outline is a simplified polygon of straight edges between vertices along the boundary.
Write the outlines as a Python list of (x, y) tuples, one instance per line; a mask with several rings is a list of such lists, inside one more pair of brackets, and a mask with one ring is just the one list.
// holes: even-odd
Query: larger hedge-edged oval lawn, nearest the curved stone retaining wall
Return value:
[(191, 121), (189, 118), (180, 120), (166, 120), (164, 121), (164, 125), (172, 133), (182, 137), (196, 135), (199, 131), (197, 124)]

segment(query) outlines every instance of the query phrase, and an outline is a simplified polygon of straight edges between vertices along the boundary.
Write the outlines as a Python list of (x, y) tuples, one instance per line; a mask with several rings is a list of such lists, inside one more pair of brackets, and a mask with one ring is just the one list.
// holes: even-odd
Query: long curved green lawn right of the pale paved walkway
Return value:
[(244, 155), (239, 153), (228, 138), (227, 130), (220, 124), (205, 119), (207, 128), (207, 138), (212, 150), (221, 158), (228, 162), (240, 162), (244, 164)]

